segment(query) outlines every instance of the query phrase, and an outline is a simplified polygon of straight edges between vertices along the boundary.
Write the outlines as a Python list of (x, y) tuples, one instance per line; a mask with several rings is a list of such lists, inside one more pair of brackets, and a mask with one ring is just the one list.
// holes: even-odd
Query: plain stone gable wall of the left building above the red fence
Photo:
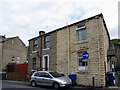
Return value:
[[(8, 63), (17, 63), (17, 57), (20, 57), (19, 64), (24, 63), (27, 60), (27, 49), (26, 46), (23, 44), (23, 42), (18, 38), (12, 38), (9, 40), (6, 40), (3, 43), (3, 60), (2, 65), (3, 68)], [(14, 58), (14, 61), (12, 62), (12, 57)]]

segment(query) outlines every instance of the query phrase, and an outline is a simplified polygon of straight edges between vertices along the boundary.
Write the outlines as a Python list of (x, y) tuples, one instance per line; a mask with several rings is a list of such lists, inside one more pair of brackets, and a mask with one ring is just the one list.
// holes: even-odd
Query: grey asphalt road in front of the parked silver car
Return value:
[[(52, 87), (46, 86), (37, 86), (32, 87), (29, 83), (25, 82), (18, 82), (18, 81), (9, 81), (3, 80), (2, 81), (2, 90), (55, 90)], [(120, 88), (85, 88), (85, 87), (78, 87), (72, 86), (70, 88), (60, 88), (60, 90), (120, 90)]]

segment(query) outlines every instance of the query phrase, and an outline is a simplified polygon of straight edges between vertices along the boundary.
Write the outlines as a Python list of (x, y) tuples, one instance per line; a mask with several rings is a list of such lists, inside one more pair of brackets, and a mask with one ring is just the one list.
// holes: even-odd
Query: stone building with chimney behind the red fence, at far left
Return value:
[(26, 45), (18, 36), (11, 38), (0, 36), (0, 57), (3, 70), (7, 64), (22, 64), (27, 59)]

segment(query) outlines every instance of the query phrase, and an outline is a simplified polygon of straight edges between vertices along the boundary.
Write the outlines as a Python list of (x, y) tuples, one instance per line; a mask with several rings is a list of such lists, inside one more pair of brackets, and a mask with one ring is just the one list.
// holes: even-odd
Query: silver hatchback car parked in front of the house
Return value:
[(69, 87), (72, 85), (71, 79), (55, 71), (37, 71), (31, 76), (30, 83), (36, 85), (53, 86), (54, 88)]

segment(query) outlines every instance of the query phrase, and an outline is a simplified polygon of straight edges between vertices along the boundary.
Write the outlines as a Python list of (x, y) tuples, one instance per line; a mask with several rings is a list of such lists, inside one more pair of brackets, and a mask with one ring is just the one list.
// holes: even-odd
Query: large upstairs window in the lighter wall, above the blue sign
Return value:
[(76, 30), (77, 30), (77, 34), (78, 34), (77, 35), (78, 41), (87, 40), (85, 24), (77, 26)]

